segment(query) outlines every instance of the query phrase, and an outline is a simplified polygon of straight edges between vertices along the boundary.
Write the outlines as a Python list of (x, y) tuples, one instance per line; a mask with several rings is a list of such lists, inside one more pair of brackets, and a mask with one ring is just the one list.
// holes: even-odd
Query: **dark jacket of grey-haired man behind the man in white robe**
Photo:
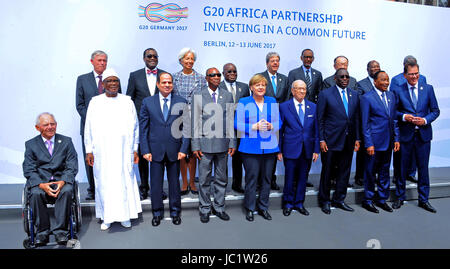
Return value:
[[(119, 88), (119, 93), (122, 93)], [(97, 82), (95, 81), (94, 71), (80, 75), (77, 78), (76, 106), (80, 114), (80, 134), (84, 135), (84, 123), (86, 122), (86, 113), (89, 102), (92, 97), (98, 95)]]

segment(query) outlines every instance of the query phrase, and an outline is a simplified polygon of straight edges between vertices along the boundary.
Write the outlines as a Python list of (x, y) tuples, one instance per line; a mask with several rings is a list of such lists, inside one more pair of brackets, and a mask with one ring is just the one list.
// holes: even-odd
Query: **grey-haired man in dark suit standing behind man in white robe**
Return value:
[[(80, 134), (81, 143), (83, 146), (83, 156), (86, 156), (86, 149), (84, 145), (84, 123), (86, 121), (86, 113), (89, 102), (92, 97), (102, 94), (104, 92), (102, 85), (102, 74), (106, 69), (108, 63), (108, 55), (101, 50), (96, 50), (91, 55), (91, 64), (94, 67), (94, 71), (87, 74), (80, 75), (77, 78), (77, 88), (76, 88), (76, 107), (78, 114), (80, 114)], [(119, 93), (121, 93), (119, 86)], [(86, 176), (88, 178), (89, 187), (87, 189), (86, 200), (95, 199), (95, 183), (94, 183), (94, 172), (92, 167), (86, 162), (84, 163), (86, 168)]]

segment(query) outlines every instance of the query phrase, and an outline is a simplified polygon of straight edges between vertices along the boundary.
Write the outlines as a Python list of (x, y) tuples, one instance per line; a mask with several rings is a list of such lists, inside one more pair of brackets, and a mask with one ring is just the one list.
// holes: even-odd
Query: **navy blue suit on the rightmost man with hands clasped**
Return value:
[[(400, 129), (401, 148), (401, 177), (397, 180), (396, 196), (399, 200), (405, 200), (405, 180), (408, 176), (406, 168), (411, 161), (414, 151), (418, 170), (419, 202), (426, 203), (430, 191), (430, 179), (428, 175), (428, 162), (430, 158), (431, 139), (433, 130), (431, 123), (439, 117), (440, 110), (434, 94), (433, 86), (418, 82), (417, 107), (410, 96), (409, 84), (405, 83), (397, 88), (394, 93), (397, 98), (397, 120)], [(403, 115), (411, 114), (426, 119), (427, 124), (419, 126), (403, 121)]]

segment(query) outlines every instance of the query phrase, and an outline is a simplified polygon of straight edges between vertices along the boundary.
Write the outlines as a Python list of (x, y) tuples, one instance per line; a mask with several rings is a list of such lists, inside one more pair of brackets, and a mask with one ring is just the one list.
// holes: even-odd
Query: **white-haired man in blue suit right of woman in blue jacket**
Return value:
[(283, 215), (289, 216), (295, 209), (307, 216), (309, 212), (303, 202), (311, 161), (319, 157), (319, 125), (316, 104), (305, 99), (306, 83), (294, 81), (291, 91), (294, 98), (280, 105), (282, 127), (278, 160), (284, 160), (285, 167)]

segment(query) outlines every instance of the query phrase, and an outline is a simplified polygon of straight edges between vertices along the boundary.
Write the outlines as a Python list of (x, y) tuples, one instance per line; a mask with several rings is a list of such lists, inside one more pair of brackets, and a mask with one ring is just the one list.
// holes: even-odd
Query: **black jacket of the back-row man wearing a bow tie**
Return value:
[[(159, 68), (157, 71), (158, 73), (156, 74), (156, 76), (159, 76), (159, 74), (166, 72)], [(158, 92), (159, 92), (158, 87), (155, 84), (154, 95), (156, 95)], [(131, 97), (131, 100), (133, 100), (134, 105), (136, 106), (136, 112), (139, 117), (139, 114), (141, 112), (142, 100), (144, 100), (145, 97), (150, 96), (150, 90), (147, 84), (147, 74), (145, 73), (145, 68), (130, 73), (130, 77), (128, 78), (127, 95)]]

